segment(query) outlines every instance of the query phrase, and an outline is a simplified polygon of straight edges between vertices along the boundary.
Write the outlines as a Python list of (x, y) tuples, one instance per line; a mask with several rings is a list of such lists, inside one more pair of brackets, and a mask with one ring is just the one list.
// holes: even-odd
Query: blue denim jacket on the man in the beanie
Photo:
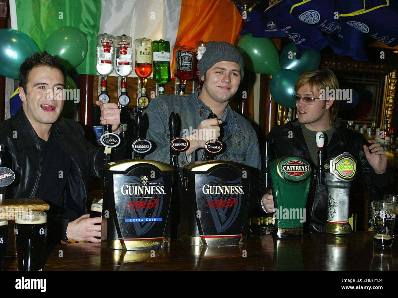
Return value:
[[(188, 136), (192, 130), (197, 129), (202, 120), (207, 119), (211, 109), (199, 98), (200, 92), (201, 88), (197, 88), (192, 94), (159, 95), (149, 103), (144, 113), (145, 121), (148, 121), (146, 138), (156, 144), (156, 150), (146, 155), (145, 159), (170, 163), (168, 121), (171, 112), (179, 114), (181, 119), (181, 130), (178, 132), (180, 136)], [(225, 122), (227, 126), (222, 141), (226, 140), (224, 141), (226, 150), (220, 155), (215, 155), (215, 159), (236, 161), (252, 167), (252, 186), (258, 190), (261, 157), (256, 132), (248, 120), (234, 112), (229, 105), (226, 107)], [(190, 162), (202, 160), (204, 151), (203, 148), (198, 149), (196, 157), (195, 151), (191, 153)], [(182, 168), (188, 163), (185, 152), (180, 153), (179, 167)]]

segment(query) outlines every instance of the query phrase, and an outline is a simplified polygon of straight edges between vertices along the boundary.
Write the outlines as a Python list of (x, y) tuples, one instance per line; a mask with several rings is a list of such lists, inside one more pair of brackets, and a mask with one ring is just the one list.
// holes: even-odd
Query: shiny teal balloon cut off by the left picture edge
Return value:
[(14, 29), (0, 29), (0, 41), (0, 74), (18, 79), (21, 64), (40, 49), (28, 35)]

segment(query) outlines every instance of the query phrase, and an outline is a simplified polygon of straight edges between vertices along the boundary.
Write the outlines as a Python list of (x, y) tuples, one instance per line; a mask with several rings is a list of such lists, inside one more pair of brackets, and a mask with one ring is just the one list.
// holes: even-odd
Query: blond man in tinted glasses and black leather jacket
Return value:
[[(339, 88), (337, 78), (330, 70), (311, 70), (300, 76), (295, 86), (294, 97), (298, 118), (274, 127), (267, 135), (271, 159), (298, 155), (315, 169), (315, 134), (324, 132), (325, 159), (334, 158), (343, 152), (351, 153), (357, 161), (356, 179), (361, 180), (372, 199), (382, 199), (382, 195), (393, 188), (392, 171), (387, 166), (386, 153), (375, 140), (367, 141), (362, 134), (336, 123), (339, 101), (324, 92), (328, 90), (326, 87), (329, 90)], [(308, 223), (307, 220), (306, 226), (310, 232), (322, 232), (327, 220), (327, 191), (324, 185), (318, 184), (313, 175), (311, 176), (306, 206), (307, 219), (310, 221)], [(267, 213), (273, 212), (272, 194), (264, 194), (262, 198), (263, 210)]]

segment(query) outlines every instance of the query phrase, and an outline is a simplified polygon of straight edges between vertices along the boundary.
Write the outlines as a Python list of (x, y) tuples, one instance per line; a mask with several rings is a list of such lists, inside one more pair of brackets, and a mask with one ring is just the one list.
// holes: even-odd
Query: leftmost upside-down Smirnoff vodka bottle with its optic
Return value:
[(99, 34), (97, 36), (97, 72), (101, 75), (101, 94), (98, 100), (109, 103), (109, 95), (106, 91), (107, 76), (113, 72), (113, 41), (115, 37), (110, 34)]

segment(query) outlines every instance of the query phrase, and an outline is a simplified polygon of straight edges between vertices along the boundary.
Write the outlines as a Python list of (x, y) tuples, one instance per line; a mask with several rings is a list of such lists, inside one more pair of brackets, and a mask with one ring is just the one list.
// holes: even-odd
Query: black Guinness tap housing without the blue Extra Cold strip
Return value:
[(181, 239), (191, 245), (246, 243), (250, 169), (241, 163), (214, 160), (222, 149), (220, 141), (208, 141), (206, 160), (187, 164), (183, 170)]

